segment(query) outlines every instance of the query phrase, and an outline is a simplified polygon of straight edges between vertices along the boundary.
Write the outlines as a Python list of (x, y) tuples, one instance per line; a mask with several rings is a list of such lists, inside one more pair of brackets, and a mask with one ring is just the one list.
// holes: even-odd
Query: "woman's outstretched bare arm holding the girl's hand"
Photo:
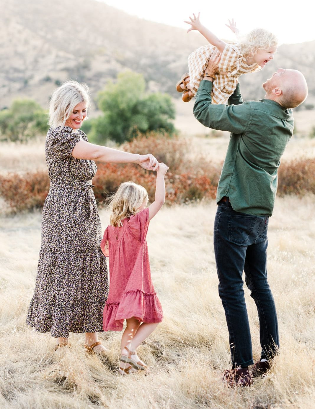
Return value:
[(159, 166), (159, 162), (151, 154), (139, 155), (138, 153), (118, 151), (118, 149), (94, 145), (86, 141), (79, 141), (75, 145), (72, 156), (76, 159), (99, 160), (107, 163), (136, 163), (144, 169), (153, 171), (156, 171)]

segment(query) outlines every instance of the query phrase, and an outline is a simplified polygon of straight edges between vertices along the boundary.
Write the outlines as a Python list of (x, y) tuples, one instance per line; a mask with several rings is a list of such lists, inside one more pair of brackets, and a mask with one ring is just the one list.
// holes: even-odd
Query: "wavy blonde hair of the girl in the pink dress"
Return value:
[(122, 220), (136, 214), (143, 201), (147, 199), (147, 191), (140, 184), (134, 182), (121, 183), (109, 202), (109, 208), (111, 209), (110, 224), (114, 227), (122, 226)]

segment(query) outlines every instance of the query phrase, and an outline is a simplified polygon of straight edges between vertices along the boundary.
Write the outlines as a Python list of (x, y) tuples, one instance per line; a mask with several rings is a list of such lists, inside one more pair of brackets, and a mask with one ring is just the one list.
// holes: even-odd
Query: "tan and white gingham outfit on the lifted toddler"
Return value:
[[(208, 44), (195, 49), (188, 56), (190, 85), (194, 95), (199, 88), (208, 59), (214, 50), (215, 46)], [(224, 72), (224, 74), (218, 74), (217, 78), (213, 81), (211, 92), (212, 103), (227, 104), (229, 97), (236, 89), (237, 77), (247, 72), (259, 70), (261, 70), (261, 67), (257, 63), (247, 65), (246, 57), (242, 56), (238, 44), (227, 43), (219, 64), (219, 71), (221, 73)]]

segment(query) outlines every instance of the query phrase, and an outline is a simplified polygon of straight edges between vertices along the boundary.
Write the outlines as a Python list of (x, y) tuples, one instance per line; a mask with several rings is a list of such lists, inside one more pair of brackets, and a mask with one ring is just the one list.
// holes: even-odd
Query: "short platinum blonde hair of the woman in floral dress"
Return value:
[[(77, 81), (66, 81), (52, 94), (49, 104), (49, 124), (52, 128), (63, 128), (66, 120), (70, 118), (73, 108), (85, 102), (86, 109), (90, 108), (88, 86)], [(85, 118), (87, 119), (87, 117)]]

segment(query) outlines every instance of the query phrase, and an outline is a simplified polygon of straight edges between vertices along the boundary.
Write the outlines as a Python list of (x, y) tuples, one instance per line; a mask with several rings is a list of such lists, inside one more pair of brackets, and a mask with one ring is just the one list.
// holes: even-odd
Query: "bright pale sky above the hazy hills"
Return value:
[(277, 36), (280, 44), (315, 40), (313, 2), (310, 0), (98, 1), (145, 20), (181, 28), (188, 28), (184, 20), (200, 12), (201, 22), (222, 38), (231, 38), (231, 31), (225, 23), (234, 18), (242, 33), (256, 27), (265, 28)]

